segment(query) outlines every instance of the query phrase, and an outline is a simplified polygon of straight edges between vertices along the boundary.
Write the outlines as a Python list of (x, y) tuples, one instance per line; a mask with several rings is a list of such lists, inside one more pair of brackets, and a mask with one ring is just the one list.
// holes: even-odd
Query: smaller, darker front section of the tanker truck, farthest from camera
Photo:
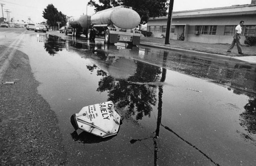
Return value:
[(66, 35), (72, 29), (73, 36), (80, 36), (81, 34), (86, 35), (88, 34), (88, 30), (91, 29), (91, 16), (88, 15), (81, 15), (78, 17), (70, 17), (66, 24)]

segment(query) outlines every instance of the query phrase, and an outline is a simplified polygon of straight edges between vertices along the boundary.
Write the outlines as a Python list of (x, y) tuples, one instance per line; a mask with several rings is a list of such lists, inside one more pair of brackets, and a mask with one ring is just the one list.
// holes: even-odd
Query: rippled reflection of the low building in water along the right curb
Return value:
[[(144, 51), (140, 56), (144, 61), (164, 59), (164, 50)], [(207, 78), (218, 84), (233, 89), (234, 93), (245, 94), (256, 93), (256, 65), (245, 63), (236, 59), (215, 59), (199, 54), (191, 54), (187, 51), (168, 51), (165, 62), (159, 61), (158, 66), (193, 75), (199, 78)]]

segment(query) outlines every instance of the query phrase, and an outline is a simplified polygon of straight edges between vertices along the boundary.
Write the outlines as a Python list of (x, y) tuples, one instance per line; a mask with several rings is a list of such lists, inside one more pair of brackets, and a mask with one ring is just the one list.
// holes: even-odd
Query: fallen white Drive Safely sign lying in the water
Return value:
[(71, 124), (102, 138), (116, 135), (120, 126), (120, 115), (112, 101), (84, 106), (78, 114), (70, 118)]

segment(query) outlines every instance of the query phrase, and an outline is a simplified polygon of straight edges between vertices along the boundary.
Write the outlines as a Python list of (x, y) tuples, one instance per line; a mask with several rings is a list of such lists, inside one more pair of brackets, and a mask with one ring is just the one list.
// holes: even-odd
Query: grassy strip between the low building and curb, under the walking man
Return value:
[[(230, 41), (231, 42), (231, 41)], [(180, 48), (180, 49), (187, 49), (193, 51), (200, 51), (200, 52), (207, 52), (207, 53), (214, 53), (220, 54), (229, 57), (248, 57), (254, 56), (253, 59), (256, 61), (256, 47), (247, 47), (245, 45), (242, 46), (243, 55), (238, 53), (237, 46), (234, 46), (232, 52), (227, 52), (227, 48), (229, 44), (209, 44), (209, 43), (196, 43), (196, 42), (187, 42), (187, 41), (180, 41), (180, 40), (170, 40), (170, 44), (164, 44), (164, 38), (153, 38), (153, 37), (141, 37), (140, 38), (140, 45), (150, 45), (156, 46), (161, 48)]]

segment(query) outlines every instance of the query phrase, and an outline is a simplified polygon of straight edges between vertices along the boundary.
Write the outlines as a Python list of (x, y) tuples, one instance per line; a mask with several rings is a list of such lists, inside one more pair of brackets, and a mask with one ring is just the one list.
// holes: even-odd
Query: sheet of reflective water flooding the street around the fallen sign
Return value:
[[(256, 64), (24, 34), (17, 49), (57, 115), (69, 165), (255, 164)], [(74, 130), (73, 114), (109, 100), (122, 116), (116, 136)]]

